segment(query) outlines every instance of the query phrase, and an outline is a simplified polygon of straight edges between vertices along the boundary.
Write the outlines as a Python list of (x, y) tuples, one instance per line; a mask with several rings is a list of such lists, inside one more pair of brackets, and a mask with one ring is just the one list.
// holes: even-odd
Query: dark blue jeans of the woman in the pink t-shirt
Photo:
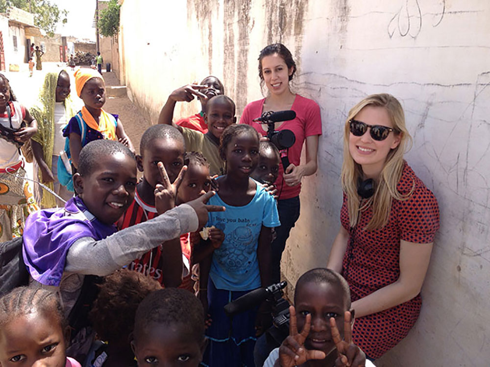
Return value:
[(277, 237), (272, 241), (270, 256), (272, 283), (277, 283), (281, 280), (282, 252), (286, 248), (286, 240), (289, 237), (289, 233), (299, 218), (299, 196), (291, 199), (278, 200), (277, 210), (279, 211), (281, 226), (276, 227)]

